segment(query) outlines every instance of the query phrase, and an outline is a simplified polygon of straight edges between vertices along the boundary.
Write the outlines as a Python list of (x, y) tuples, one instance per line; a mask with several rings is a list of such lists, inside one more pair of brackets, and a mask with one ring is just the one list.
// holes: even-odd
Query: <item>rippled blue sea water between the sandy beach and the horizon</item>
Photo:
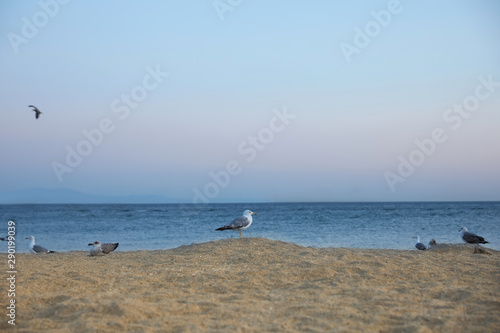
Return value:
[[(215, 231), (245, 209), (258, 213), (243, 237), (265, 237), (315, 247), (414, 249), (413, 236), (427, 243), (462, 243), (462, 226), (500, 250), (500, 202), (259, 203), (0, 205), (0, 236), (7, 222), (17, 228), (17, 251), (25, 237), (54, 251), (87, 251), (95, 240), (119, 242), (121, 251), (169, 249), (223, 238)], [(0, 250), (7, 250), (0, 242)]]

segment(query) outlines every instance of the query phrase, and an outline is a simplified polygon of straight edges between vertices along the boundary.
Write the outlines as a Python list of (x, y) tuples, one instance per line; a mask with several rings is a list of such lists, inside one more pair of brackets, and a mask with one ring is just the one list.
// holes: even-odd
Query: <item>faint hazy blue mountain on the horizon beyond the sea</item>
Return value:
[(161, 195), (93, 195), (69, 189), (28, 189), (0, 193), (0, 204), (177, 203)]

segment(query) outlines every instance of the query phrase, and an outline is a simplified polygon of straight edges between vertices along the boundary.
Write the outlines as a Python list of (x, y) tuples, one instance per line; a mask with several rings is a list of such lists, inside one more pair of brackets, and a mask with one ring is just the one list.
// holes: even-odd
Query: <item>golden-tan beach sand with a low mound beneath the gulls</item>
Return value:
[[(473, 252), (243, 238), (103, 257), (17, 254), (15, 330), (500, 332), (500, 252)], [(0, 330), (12, 329), (3, 316)]]

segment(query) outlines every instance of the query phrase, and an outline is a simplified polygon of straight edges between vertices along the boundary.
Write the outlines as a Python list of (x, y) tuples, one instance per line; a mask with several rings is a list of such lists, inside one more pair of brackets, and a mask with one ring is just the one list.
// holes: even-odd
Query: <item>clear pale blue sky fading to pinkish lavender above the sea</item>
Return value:
[(493, 0), (4, 1), (0, 195), (500, 200), (498, 17)]

